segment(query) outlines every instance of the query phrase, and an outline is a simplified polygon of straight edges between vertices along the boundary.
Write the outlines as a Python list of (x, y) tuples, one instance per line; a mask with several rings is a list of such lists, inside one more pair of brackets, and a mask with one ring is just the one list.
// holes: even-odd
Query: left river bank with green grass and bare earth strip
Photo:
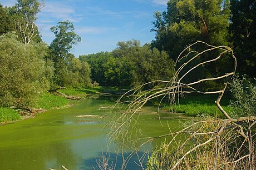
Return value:
[[(93, 98), (95, 95), (120, 95), (127, 91), (126, 88), (118, 87), (91, 87), (91, 88), (67, 88), (58, 90), (66, 96), (75, 96), (81, 99)], [(19, 108), (2, 108), (0, 107), (0, 126), (4, 124), (22, 121), (24, 119), (33, 118), (37, 113), (43, 113), (50, 109), (61, 109), (70, 107), (70, 100), (65, 97), (53, 95), (51, 93), (43, 93), (32, 112)]]

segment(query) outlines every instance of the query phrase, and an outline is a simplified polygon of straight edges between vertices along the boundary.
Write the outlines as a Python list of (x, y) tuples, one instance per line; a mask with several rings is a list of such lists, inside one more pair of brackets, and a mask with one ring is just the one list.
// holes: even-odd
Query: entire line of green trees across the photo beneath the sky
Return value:
[[(81, 42), (69, 21), (51, 27), (55, 39), (47, 46), (36, 26), (43, 4), (18, 0), (13, 7), (0, 3), (0, 106), (32, 106), (42, 92), (58, 86), (134, 87), (173, 76), (174, 61), (198, 40), (232, 47), (238, 72), (256, 77), (256, 4), (249, 0), (170, 0), (165, 12), (155, 12), (150, 44), (118, 42), (112, 52), (76, 58), (71, 49)], [(191, 51), (200, 51), (196, 46)], [(208, 53), (205, 58), (212, 58)], [(214, 77), (232, 64), (225, 59), (201, 67), (194, 79)], [(156, 86), (157, 84), (153, 84)], [(211, 87), (218, 84), (210, 84)], [(152, 88), (152, 87), (149, 87)]]

